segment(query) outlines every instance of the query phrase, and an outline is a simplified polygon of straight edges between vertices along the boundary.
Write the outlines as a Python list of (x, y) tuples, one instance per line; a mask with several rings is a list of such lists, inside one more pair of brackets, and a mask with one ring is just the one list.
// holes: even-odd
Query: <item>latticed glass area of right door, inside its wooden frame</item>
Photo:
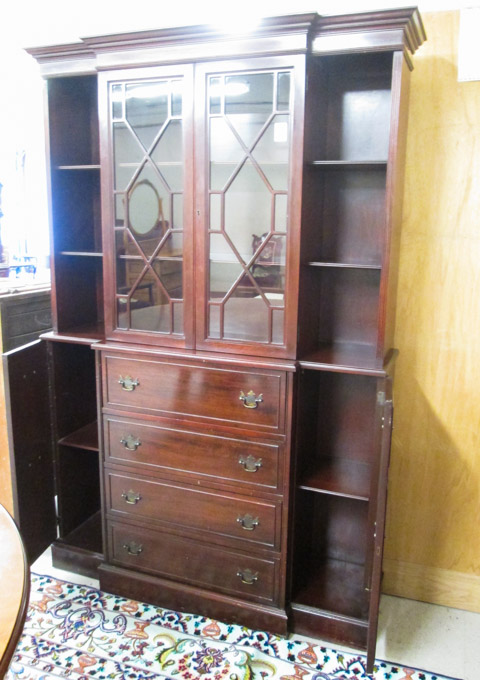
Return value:
[(290, 74), (214, 76), (209, 96), (208, 334), (283, 344)]

